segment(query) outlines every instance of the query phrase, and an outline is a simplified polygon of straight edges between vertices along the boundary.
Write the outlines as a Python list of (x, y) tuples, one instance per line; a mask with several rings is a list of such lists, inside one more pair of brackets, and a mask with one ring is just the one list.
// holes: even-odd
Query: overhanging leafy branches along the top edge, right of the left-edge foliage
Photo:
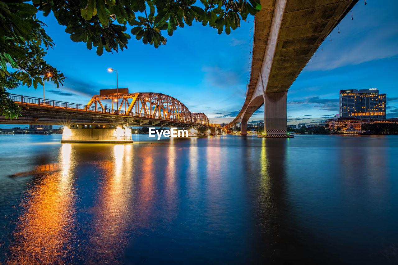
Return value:
[(131, 34), (144, 44), (158, 48), (166, 44), (164, 33), (172, 36), (177, 27), (202, 25), (218, 29), (227, 34), (240, 26), (249, 14), (261, 9), (259, 0), (33, 0), (33, 4), (44, 15), (53, 12), (61, 25), (66, 26), (72, 41), (87, 44), (88, 49), (97, 47), (116, 52), (127, 48), (131, 36), (126, 33), (127, 24), (133, 26)]

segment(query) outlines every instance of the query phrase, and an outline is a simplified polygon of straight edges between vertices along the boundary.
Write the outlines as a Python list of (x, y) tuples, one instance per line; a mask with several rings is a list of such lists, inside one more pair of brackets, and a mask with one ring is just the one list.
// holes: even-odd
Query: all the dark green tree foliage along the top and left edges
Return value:
[[(166, 44), (166, 31), (172, 36), (177, 27), (201, 22), (203, 26), (225, 31), (240, 27), (240, 20), (261, 9), (259, 0), (0, 0), (0, 114), (18, 118), (18, 106), (6, 97), (6, 89), (20, 84), (43, 85), (53, 81), (62, 85), (64, 75), (47, 64), (45, 50), (53, 47), (37, 10), (45, 16), (51, 12), (75, 42), (88, 49), (96, 47), (98, 55), (127, 48), (131, 34), (144, 44), (158, 48)], [(33, 3), (33, 4), (31, 4)], [(14, 71), (8, 71), (8, 67)], [(19, 111), (19, 112), (18, 112)]]

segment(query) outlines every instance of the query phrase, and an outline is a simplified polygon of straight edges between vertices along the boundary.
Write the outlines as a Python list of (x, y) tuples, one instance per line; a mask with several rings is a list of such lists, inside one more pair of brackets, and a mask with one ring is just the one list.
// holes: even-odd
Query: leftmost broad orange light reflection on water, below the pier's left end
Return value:
[(10, 264), (66, 264), (75, 250), (76, 209), (71, 150), (63, 144), (60, 172), (38, 176), (21, 202)]

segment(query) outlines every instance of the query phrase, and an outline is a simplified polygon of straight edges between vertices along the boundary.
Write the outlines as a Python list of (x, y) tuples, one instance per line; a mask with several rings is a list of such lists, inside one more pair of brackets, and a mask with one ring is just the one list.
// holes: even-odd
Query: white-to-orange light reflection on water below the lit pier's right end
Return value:
[(120, 263), (134, 222), (135, 197), (131, 145), (115, 145), (113, 161), (104, 161), (105, 179), (96, 196), (90, 227), (89, 264)]

